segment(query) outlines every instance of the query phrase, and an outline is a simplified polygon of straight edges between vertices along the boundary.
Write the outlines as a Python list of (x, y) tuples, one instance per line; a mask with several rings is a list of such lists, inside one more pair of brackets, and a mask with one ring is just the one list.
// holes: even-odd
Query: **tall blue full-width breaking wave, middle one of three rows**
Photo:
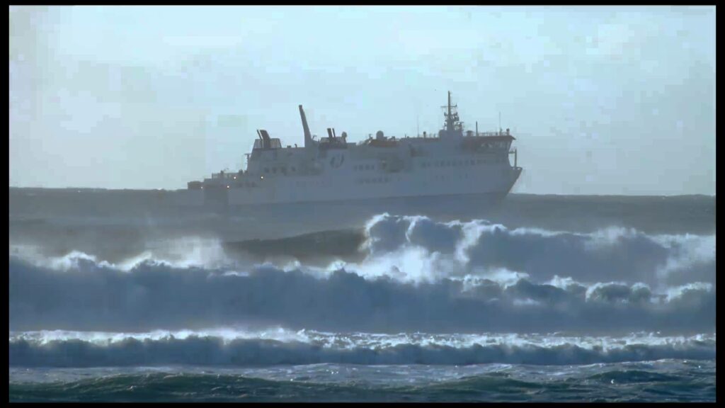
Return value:
[[(343, 269), (177, 268), (143, 261), (128, 272), (86, 258), (66, 271), (11, 258), (11, 330), (153, 330), (238, 323), (396, 332), (706, 332), (715, 327), (707, 283), (655, 293), (643, 284), (484, 277), (405, 283)], [(554, 283), (555, 285), (552, 285)], [(560, 286), (556, 286), (560, 285)]]

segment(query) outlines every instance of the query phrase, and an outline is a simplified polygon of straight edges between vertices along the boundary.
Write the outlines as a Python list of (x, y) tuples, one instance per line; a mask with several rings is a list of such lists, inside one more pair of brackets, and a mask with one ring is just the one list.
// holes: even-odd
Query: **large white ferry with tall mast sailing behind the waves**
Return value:
[(476, 131), (464, 131), (450, 91), (442, 108), (437, 135), (396, 138), (377, 131), (374, 138), (350, 142), (335, 128), (327, 128), (326, 137), (313, 136), (299, 105), (302, 147), (283, 147), (259, 129), (246, 168), (189, 181), (175, 203), (253, 216), (347, 219), (381, 212), (455, 216), (463, 207), (500, 202), (522, 171), (515, 137), (500, 126), (479, 133), (478, 123)]

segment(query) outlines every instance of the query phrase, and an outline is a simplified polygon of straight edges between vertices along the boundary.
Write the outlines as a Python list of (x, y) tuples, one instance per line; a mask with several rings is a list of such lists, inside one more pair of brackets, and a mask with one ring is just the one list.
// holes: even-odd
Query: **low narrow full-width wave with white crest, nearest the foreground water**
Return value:
[[(216, 334), (216, 335), (215, 335)], [(366, 333), (227, 331), (21, 333), (11, 335), (11, 367), (125, 367), (169, 364), (595, 364), (660, 359), (714, 359), (715, 335), (375, 335)]]

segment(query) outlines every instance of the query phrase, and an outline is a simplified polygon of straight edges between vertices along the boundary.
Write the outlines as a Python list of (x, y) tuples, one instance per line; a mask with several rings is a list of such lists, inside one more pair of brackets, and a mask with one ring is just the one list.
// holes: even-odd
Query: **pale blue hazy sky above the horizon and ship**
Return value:
[(302, 145), (510, 128), (512, 192), (715, 194), (715, 7), (10, 7), (11, 187), (183, 189)]

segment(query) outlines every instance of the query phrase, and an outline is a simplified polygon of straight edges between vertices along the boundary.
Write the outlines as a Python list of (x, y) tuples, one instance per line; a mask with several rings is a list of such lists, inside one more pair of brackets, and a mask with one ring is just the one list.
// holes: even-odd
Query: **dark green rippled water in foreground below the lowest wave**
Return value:
[[(276, 370), (11, 370), (11, 401), (715, 401), (713, 361), (588, 366), (319, 364)], [(17, 370), (23, 371), (23, 370)], [(14, 375), (13, 375), (14, 374)], [(256, 375), (256, 376), (255, 376)], [(455, 377), (457, 376), (457, 377)], [(13, 381), (12, 377), (20, 378)], [(22, 382), (35, 377), (41, 382)], [(450, 378), (455, 377), (455, 378)]]

